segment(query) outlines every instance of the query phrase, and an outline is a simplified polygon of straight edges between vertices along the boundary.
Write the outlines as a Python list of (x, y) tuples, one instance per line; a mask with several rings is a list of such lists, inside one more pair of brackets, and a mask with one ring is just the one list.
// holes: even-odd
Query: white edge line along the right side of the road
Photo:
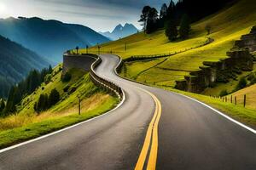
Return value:
[[(177, 92), (172, 92), (172, 93), (178, 94)], [(184, 94), (178, 94), (178, 95), (181, 95), (181, 96), (183, 96), (183, 97), (185, 97), (185, 98), (188, 98), (188, 99), (192, 99), (192, 100), (194, 100), (195, 102), (197, 102), (197, 103), (199, 103), (199, 104), (201, 104), (201, 105), (206, 106), (207, 108), (211, 109), (212, 111), (217, 112), (219, 115), (224, 116), (226, 119), (230, 120), (231, 122), (235, 122), (237, 125), (246, 128), (248, 131), (251, 131), (251, 132), (254, 133), (254, 134), (256, 133), (256, 130), (254, 130), (252, 127), (247, 127), (247, 125), (244, 125), (244, 124), (242, 124), (241, 122), (236, 121), (235, 119), (231, 118), (230, 116), (227, 116), (226, 114), (224, 114), (224, 113), (222, 113), (222, 112), (220, 112), (220, 111), (218, 111), (218, 110), (212, 108), (210, 105), (207, 105), (207, 104), (205, 104), (205, 103), (203, 103), (203, 102), (201, 102), (201, 101), (199, 101), (199, 100), (197, 100), (197, 99), (191, 98), (191, 97), (186, 96), (186, 95), (184, 95)]]

